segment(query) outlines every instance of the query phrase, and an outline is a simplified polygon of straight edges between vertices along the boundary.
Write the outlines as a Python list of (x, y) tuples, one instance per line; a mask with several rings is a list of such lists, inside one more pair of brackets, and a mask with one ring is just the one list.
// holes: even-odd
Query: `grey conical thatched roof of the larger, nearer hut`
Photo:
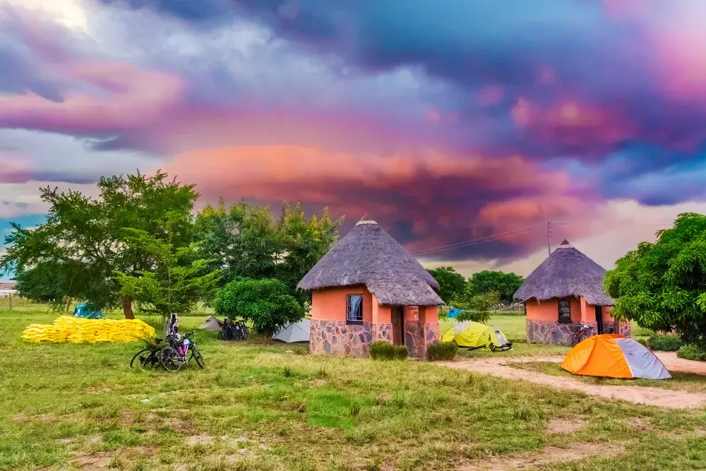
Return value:
[(358, 222), (301, 279), (300, 290), (365, 285), (380, 304), (438, 306), (436, 280), (416, 258), (378, 226)]

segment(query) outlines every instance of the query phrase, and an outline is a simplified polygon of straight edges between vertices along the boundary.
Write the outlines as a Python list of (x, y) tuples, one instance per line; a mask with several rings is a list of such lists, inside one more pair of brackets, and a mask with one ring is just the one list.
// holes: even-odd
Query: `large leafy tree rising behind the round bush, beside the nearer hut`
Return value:
[(341, 223), (330, 219), (328, 209), (306, 217), (301, 204), (284, 203), (275, 219), (267, 207), (241, 202), (227, 208), (221, 201), (198, 213), (194, 237), (203, 256), (224, 273), (223, 285), (239, 278), (277, 278), (304, 302), (309, 294), (297, 291), (297, 282), (335, 244)]

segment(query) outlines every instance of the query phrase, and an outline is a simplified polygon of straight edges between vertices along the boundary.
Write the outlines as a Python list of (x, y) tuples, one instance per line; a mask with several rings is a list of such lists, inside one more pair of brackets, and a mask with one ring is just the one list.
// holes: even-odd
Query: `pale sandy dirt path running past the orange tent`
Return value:
[[(654, 352), (670, 371), (687, 371), (706, 374), (706, 365), (677, 358), (672, 352)], [(585, 383), (576, 378), (551, 376), (549, 374), (527, 371), (507, 366), (510, 362), (561, 362), (562, 357), (496, 357), (463, 359), (439, 364), (450, 368), (491, 374), (510, 379), (524, 379), (532, 383), (546, 384), (554, 388), (578, 390), (582, 393), (609, 399), (621, 399), (631, 403), (656, 405), (670, 409), (697, 409), (706, 407), (706, 393), (688, 393), (686, 391), (644, 386), (608, 386)]]

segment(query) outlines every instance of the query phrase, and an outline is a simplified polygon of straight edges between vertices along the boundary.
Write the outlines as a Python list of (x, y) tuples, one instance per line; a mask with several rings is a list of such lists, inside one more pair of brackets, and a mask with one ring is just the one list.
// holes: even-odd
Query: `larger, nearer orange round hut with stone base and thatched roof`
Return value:
[(385, 341), (424, 357), (438, 342), (438, 283), (375, 221), (358, 222), (297, 287), (312, 292), (312, 353), (367, 357)]

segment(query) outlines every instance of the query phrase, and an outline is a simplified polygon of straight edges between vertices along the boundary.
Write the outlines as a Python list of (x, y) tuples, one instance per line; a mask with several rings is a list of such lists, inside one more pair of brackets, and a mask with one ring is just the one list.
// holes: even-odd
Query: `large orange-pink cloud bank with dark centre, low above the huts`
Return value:
[[(328, 205), (335, 215), (357, 219), (367, 214), (386, 227), (405, 225), (409, 250), (499, 234), (532, 218), (563, 217), (580, 203), (567, 174), (540, 169), (519, 156), (436, 150), (379, 155), (248, 145), (192, 150), (176, 157), (167, 171), (196, 183), (203, 201), (303, 201), (314, 210)], [(517, 193), (527, 194), (526, 200), (484, 203), (489, 194), (503, 200)], [(536, 245), (528, 235), (512, 243)]]

